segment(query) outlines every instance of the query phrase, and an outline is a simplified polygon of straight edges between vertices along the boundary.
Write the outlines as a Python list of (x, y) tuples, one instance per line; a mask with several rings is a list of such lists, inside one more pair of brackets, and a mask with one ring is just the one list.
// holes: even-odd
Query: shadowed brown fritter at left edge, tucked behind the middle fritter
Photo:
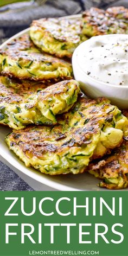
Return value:
[[(37, 91), (47, 88), (51, 85), (48, 81), (35, 82), (27, 80), (10, 79), (6, 76), (0, 76), (0, 124), (9, 125), (8, 116), (11, 114), (11, 108), (20, 111), (20, 104), (34, 95)], [(10, 106), (10, 108), (9, 108)], [(6, 108), (6, 109), (5, 109)]]

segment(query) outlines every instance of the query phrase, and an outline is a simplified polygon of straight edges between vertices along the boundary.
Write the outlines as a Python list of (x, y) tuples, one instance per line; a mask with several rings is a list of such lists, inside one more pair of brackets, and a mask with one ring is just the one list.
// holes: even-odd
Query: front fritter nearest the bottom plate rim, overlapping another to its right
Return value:
[(63, 131), (62, 125), (29, 126), (12, 132), (5, 140), (26, 166), (32, 166), (49, 175), (69, 172), (78, 174), (84, 171), (93, 153), (99, 137), (98, 126), (93, 131), (88, 131), (87, 140), (90, 138), (92, 141), (87, 147), (86, 141), (83, 141), (86, 133), (87, 130), (85, 132), (84, 129), (76, 128)]

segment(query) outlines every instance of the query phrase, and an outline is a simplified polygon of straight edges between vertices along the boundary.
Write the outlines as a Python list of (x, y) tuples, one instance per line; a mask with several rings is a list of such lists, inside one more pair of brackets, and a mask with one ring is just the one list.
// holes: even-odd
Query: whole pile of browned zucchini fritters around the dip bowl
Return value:
[[(27, 167), (49, 175), (89, 171), (103, 180), (100, 187), (125, 188), (126, 112), (105, 98), (84, 98), (73, 80), (72, 53), (86, 36), (95, 35), (85, 24), (98, 30), (89, 19), (85, 22), (93, 11), (75, 20), (34, 21), (31, 39), (24, 35), (1, 50), (0, 124), (14, 129), (5, 140)], [(111, 20), (111, 10), (106, 13)], [(114, 18), (122, 22), (119, 11)]]

